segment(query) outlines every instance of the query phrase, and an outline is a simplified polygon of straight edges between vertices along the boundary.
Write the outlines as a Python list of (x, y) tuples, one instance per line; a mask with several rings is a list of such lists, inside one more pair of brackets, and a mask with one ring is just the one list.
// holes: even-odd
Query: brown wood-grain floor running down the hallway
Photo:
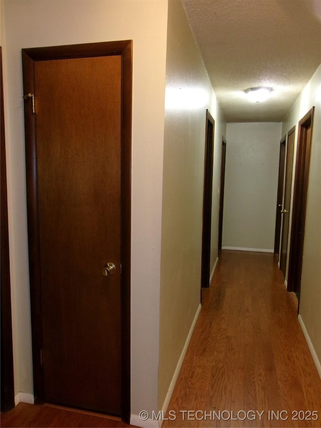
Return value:
[(222, 251), (202, 299), (163, 426), (321, 426), (321, 380), (273, 254)]

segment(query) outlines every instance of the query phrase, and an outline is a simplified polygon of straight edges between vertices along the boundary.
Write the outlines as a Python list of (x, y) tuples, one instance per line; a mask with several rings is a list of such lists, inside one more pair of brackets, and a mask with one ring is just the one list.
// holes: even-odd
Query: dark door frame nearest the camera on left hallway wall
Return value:
[[(209, 129), (208, 129), (209, 123), (211, 123), (213, 126), (211, 140), (209, 140), (209, 137), (210, 137)], [(201, 284), (203, 288), (210, 287), (214, 132), (215, 132), (215, 120), (212, 117), (209, 110), (207, 109), (206, 110), (206, 131), (205, 131), (202, 269), (201, 269)]]

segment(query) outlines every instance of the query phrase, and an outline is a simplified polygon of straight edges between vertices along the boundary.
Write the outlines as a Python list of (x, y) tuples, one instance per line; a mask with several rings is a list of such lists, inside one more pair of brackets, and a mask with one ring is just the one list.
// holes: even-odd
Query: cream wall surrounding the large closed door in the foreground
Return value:
[(131, 411), (155, 409), (167, 0), (2, 6), (15, 393), (33, 393), (21, 49), (132, 39)]

